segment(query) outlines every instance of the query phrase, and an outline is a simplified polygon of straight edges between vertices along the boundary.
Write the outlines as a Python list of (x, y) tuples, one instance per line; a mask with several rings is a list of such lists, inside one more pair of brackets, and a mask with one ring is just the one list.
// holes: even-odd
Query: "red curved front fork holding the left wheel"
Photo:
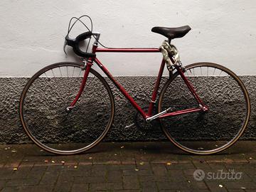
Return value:
[(90, 68), (92, 67), (92, 58), (89, 58), (86, 61), (86, 65), (85, 66), (86, 66), (85, 67), (85, 73), (84, 73), (83, 78), (82, 78), (80, 89), (78, 91), (78, 94), (75, 96), (75, 100), (73, 100), (73, 102), (70, 104), (70, 106), (66, 108), (67, 112), (70, 112), (70, 110), (72, 110), (73, 107), (75, 107), (75, 103), (78, 102), (79, 97), (82, 95), (82, 91), (85, 89), (85, 84), (86, 84), (88, 75), (90, 73)]

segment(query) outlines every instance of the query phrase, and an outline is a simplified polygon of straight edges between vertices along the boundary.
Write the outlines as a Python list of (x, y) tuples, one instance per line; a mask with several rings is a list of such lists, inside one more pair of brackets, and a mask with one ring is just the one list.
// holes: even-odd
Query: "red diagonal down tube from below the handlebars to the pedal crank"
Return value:
[(129, 102), (131, 102), (132, 106), (135, 107), (140, 114), (142, 114), (142, 117), (144, 119), (146, 119), (148, 117), (148, 115), (144, 112), (144, 110), (142, 110), (141, 107), (139, 107), (139, 105), (137, 104), (137, 102), (134, 101), (134, 99), (129, 95), (129, 93), (124, 89), (124, 87), (122, 87), (122, 85), (119, 84), (119, 82), (117, 82), (114, 77), (110, 74), (110, 72), (107, 70), (107, 68), (105, 68), (104, 65), (102, 65), (102, 63), (100, 63), (100, 60), (98, 60), (97, 58), (95, 58), (95, 63), (103, 70), (103, 72), (107, 75), (108, 78), (110, 78), (110, 80), (112, 80), (112, 82), (114, 83), (114, 85), (122, 92), (122, 94), (124, 95), (124, 97), (127, 98), (127, 100), (129, 100)]

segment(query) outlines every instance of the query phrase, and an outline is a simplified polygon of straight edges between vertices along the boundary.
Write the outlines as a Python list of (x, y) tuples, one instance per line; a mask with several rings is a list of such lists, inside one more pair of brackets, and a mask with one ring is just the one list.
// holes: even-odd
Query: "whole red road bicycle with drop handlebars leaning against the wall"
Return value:
[[(68, 35), (82, 17), (69, 25)], [(184, 151), (217, 153), (233, 145), (245, 131), (250, 100), (240, 78), (214, 63), (183, 67), (171, 40), (185, 36), (191, 30), (189, 26), (152, 28), (154, 33), (168, 38), (160, 48), (99, 48), (100, 33), (92, 32), (92, 21), (91, 28), (86, 28), (88, 31), (75, 39), (65, 37), (65, 45), (73, 47), (83, 63), (48, 65), (28, 80), (21, 94), (21, 123), (28, 137), (42, 149), (55, 154), (77, 154), (102, 141), (114, 119), (109, 80), (146, 123), (160, 122), (166, 137)], [(88, 52), (88, 46), (81, 50), (80, 42), (86, 40), (89, 45), (91, 38), (95, 38), (91, 51)], [(100, 62), (96, 56), (99, 52), (163, 54), (147, 110), (134, 101)], [(95, 64), (107, 77), (91, 68)], [(162, 78), (165, 65), (169, 77)], [(166, 82), (157, 100), (162, 79)]]

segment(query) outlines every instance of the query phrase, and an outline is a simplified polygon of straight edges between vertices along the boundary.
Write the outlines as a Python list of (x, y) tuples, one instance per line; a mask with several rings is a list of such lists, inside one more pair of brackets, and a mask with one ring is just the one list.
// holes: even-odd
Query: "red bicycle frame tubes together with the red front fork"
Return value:
[[(97, 45), (94, 45), (92, 47), (92, 53), (97, 53), (97, 52), (105, 52), (105, 53), (106, 52), (112, 52), (112, 53), (113, 52), (114, 53), (120, 53), (120, 52), (122, 52), (122, 53), (159, 53), (159, 52), (161, 52), (161, 50), (159, 50), (159, 48), (97, 48)], [(173, 60), (171, 60), (171, 61), (174, 63)], [(85, 73), (84, 73), (84, 76), (83, 76), (83, 79), (82, 79), (82, 83), (80, 85), (80, 90), (78, 92), (78, 95), (76, 95), (75, 100), (71, 103), (70, 107), (68, 107), (68, 108), (74, 107), (75, 103), (78, 101), (80, 95), (82, 94), (82, 91), (85, 88), (86, 80), (87, 80), (87, 77), (89, 75), (90, 68), (93, 65), (93, 62), (95, 62), (101, 68), (101, 70), (107, 75), (107, 77), (110, 78), (110, 80), (112, 80), (112, 82), (118, 88), (118, 90), (120, 92), (122, 92), (124, 97), (126, 97), (127, 100), (129, 100), (129, 102), (132, 104), (132, 106), (134, 108), (136, 108), (137, 111), (140, 114), (142, 114), (142, 117), (144, 119), (152, 117), (152, 111), (153, 111), (154, 105), (156, 103), (157, 92), (159, 90), (159, 85), (160, 85), (161, 78), (162, 78), (162, 75), (163, 75), (163, 72), (164, 72), (164, 65), (165, 65), (164, 59), (161, 61), (161, 66), (160, 66), (160, 69), (159, 69), (159, 74), (157, 76), (156, 83), (154, 85), (154, 91), (152, 92), (151, 101), (149, 102), (149, 110), (147, 112), (142, 110), (142, 107), (140, 107), (137, 104), (137, 102), (135, 102), (135, 100), (124, 89), (124, 87), (122, 87), (122, 85), (120, 85), (119, 82), (117, 82), (117, 80), (114, 79), (114, 77), (111, 75), (111, 73), (107, 70), (107, 68), (105, 68), (105, 66), (100, 62), (100, 60), (97, 57), (89, 58), (87, 60), (86, 68), (85, 68)], [(186, 83), (188, 89), (191, 91), (193, 97), (195, 97), (195, 99), (197, 100), (199, 107), (198, 108), (186, 109), (186, 110), (179, 110), (179, 111), (176, 111), (176, 112), (167, 112), (166, 111), (165, 114), (161, 114), (157, 118), (164, 118), (164, 117), (175, 116), (175, 115), (178, 115), (178, 114), (186, 114), (186, 113), (190, 113), (190, 112), (199, 112), (199, 111), (206, 111), (206, 110), (208, 110), (208, 107), (203, 104), (203, 101), (196, 94), (195, 89), (193, 88), (191, 83), (188, 81), (186, 76), (183, 74), (183, 70), (178, 65), (175, 65), (175, 68), (178, 71), (178, 73), (181, 75), (181, 78), (183, 79), (183, 81)]]

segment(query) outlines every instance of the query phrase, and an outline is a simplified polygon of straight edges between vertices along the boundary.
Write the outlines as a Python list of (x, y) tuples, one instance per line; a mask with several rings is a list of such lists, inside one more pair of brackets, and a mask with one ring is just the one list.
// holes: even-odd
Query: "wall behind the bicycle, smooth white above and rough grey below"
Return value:
[[(28, 142), (18, 119), (22, 88), (36, 71), (65, 60), (78, 61), (72, 51), (63, 53), (63, 41), (72, 16), (92, 17), (94, 31), (109, 47), (159, 47), (163, 36), (154, 26), (189, 25), (192, 30), (173, 43), (184, 65), (198, 61), (220, 63), (245, 80), (252, 98), (252, 117), (245, 138), (255, 139), (256, 1), (0, 1), (0, 142)], [(77, 26), (73, 37), (82, 33)], [(132, 96), (151, 94), (161, 54), (97, 55)], [(94, 66), (95, 68), (95, 66)], [(98, 70), (97, 68), (95, 68)], [(165, 72), (164, 75), (167, 75)], [(248, 75), (248, 76), (247, 76)], [(132, 77), (128, 77), (132, 76)], [(141, 77), (143, 76), (143, 77)], [(139, 86), (141, 89), (134, 90)], [(145, 94), (143, 93), (145, 92)], [(133, 108), (116, 90), (117, 114), (109, 139), (164, 139), (161, 133), (141, 132), (132, 123)], [(120, 99), (121, 98), (121, 99)], [(146, 100), (136, 98), (142, 105)]]

